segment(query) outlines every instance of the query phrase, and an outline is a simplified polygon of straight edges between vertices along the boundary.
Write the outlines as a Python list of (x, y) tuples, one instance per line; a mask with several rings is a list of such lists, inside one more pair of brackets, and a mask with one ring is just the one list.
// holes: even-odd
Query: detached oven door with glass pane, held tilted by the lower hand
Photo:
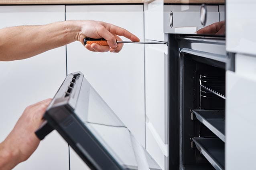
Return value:
[(69, 74), (36, 134), (56, 129), (92, 170), (160, 170), (81, 72)]

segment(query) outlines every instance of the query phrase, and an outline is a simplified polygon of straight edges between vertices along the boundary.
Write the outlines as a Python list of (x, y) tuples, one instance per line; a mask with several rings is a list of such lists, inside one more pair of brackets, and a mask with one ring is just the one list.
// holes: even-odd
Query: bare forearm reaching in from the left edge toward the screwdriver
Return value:
[(16, 26), (0, 30), (0, 61), (29, 58), (77, 40), (76, 21), (42, 26)]

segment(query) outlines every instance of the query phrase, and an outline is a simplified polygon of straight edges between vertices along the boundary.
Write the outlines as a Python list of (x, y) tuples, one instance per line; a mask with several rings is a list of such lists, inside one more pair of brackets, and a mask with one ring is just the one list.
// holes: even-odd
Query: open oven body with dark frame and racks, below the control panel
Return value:
[(169, 34), (169, 68), (169, 168), (224, 170), (225, 37)]

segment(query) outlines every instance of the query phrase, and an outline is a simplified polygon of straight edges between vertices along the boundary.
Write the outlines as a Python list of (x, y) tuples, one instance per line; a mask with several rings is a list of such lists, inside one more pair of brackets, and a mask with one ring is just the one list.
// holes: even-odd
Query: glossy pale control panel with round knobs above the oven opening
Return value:
[[(195, 34), (204, 26), (200, 22), (200, 5), (165, 5), (164, 31), (175, 34)], [(207, 6), (205, 26), (219, 22), (219, 7)]]

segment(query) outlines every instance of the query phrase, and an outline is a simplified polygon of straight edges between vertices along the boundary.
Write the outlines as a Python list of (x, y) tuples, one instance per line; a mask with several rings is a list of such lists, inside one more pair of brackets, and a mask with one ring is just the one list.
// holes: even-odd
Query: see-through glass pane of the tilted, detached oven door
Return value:
[(114, 159), (127, 170), (161, 170), (99, 94), (91, 87), (87, 94), (87, 109), (77, 115)]

